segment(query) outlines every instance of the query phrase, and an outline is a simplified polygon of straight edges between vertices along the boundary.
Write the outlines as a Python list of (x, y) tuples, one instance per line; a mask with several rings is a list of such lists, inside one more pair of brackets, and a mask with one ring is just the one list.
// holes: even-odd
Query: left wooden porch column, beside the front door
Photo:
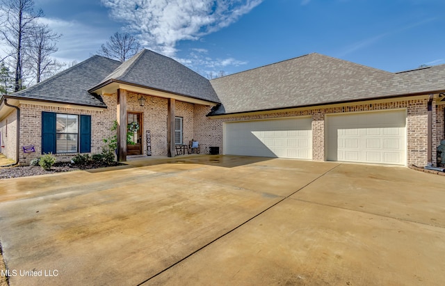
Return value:
[(127, 90), (118, 89), (118, 161), (127, 161)]

